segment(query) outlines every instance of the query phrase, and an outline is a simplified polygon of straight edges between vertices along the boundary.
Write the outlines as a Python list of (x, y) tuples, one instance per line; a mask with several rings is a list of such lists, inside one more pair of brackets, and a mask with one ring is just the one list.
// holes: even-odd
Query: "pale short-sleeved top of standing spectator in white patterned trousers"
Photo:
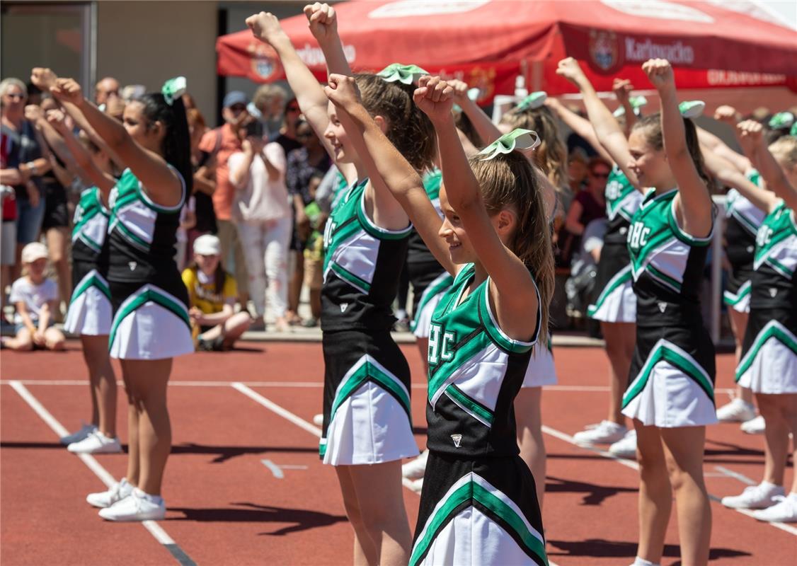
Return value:
[[(266, 159), (280, 171), (280, 178), (269, 181), (269, 171), (260, 155), (255, 155), (249, 167), (249, 183), (235, 191), (233, 216), (244, 222), (263, 222), (289, 218), (288, 188), (285, 187), (285, 151), (279, 143), (267, 143)], [(227, 164), (230, 171), (241, 166), (245, 159), (242, 151), (230, 155)]]

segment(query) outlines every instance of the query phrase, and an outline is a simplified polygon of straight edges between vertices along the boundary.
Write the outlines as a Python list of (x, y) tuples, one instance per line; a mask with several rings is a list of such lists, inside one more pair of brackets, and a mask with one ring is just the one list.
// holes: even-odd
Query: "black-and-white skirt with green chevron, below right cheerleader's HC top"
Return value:
[(705, 329), (638, 327), (622, 414), (660, 428), (717, 423), (714, 374)]

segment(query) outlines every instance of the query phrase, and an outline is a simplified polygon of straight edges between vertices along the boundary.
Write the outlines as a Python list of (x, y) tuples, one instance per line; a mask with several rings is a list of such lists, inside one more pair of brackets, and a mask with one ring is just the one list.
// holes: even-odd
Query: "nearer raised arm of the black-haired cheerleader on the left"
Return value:
[[(141, 147), (130, 137), (118, 120), (107, 116), (94, 104), (84, 99), (80, 85), (73, 79), (58, 79), (53, 95), (59, 100), (72, 103), (83, 113), (108, 147), (112, 149), (125, 165), (130, 167), (139, 179), (147, 195), (156, 204), (176, 206), (183, 196), (182, 183), (177, 174), (167, 166), (161, 155)], [(161, 127), (164, 127), (163, 124)]]

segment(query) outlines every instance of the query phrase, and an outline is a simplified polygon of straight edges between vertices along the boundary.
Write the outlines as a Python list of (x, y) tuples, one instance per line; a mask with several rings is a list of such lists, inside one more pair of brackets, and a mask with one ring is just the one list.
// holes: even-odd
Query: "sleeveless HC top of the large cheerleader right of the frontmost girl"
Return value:
[(681, 230), (673, 210), (677, 194), (650, 189), (628, 231), (638, 326), (702, 324), (699, 295), (712, 237)]

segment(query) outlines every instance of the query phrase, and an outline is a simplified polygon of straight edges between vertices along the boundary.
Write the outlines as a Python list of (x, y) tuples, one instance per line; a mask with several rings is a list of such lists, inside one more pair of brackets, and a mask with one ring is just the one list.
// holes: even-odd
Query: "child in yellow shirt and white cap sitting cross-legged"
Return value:
[(249, 313), (234, 312), (238, 288), (219, 261), (221, 252), (216, 236), (200, 236), (194, 240), (194, 263), (183, 271), (197, 349), (206, 352), (229, 350), (251, 324)]

